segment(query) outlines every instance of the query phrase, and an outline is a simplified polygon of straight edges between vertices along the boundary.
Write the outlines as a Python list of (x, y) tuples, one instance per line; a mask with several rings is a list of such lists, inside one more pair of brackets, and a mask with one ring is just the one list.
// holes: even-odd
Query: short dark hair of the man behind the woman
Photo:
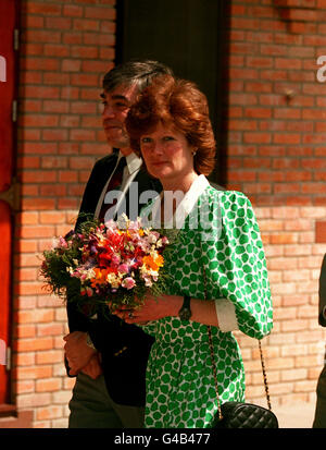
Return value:
[(122, 84), (137, 84), (139, 92), (158, 75), (173, 75), (172, 69), (159, 61), (130, 60), (116, 65), (104, 75), (103, 89), (111, 92)]

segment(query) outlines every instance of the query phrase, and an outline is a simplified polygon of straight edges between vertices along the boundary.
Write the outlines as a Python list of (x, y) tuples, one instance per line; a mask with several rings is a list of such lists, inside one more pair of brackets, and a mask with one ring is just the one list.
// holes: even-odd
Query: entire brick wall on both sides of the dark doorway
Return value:
[[(14, 253), (14, 375), (33, 426), (66, 426), (65, 308), (38, 279), (38, 254), (67, 231), (95, 159), (108, 151), (101, 76), (114, 58), (115, 0), (22, 1), (18, 172), (23, 210)], [(291, 7), (291, 8), (289, 8)], [(314, 400), (325, 330), (317, 278), (325, 244), (326, 2), (233, 0), (228, 186), (252, 200), (275, 308), (264, 340), (273, 404)], [(238, 336), (248, 400), (263, 400), (256, 342)]]

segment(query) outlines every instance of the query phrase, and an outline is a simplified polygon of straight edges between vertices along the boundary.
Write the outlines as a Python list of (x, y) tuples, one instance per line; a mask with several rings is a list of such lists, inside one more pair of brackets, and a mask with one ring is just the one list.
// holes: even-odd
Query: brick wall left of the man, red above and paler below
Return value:
[(108, 153), (99, 94), (113, 66), (114, 3), (22, 1), (13, 388), (36, 427), (66, 426), (66, 314), (42, 290), (38, 255), (71, 229), (89, 171)]

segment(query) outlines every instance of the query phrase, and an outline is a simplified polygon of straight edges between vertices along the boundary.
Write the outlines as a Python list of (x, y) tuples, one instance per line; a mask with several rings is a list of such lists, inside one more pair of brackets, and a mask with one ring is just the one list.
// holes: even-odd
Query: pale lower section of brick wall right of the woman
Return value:
[[(326, 244), (315, 243), (315, 223), (326, 207), (255, 207), (274, 306), (273, 332), (262, 341), (272, 405), (314, 402), (324, 364), (326, 330), (317, 325), (318, 277)], [(266, 405), (260, 354), (238, 335), (248, 400)]]

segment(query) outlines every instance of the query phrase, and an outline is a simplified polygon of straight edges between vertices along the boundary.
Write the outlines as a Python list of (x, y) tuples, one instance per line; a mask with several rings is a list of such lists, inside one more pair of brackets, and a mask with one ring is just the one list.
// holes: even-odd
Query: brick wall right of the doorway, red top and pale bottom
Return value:
[[(326, 253), (326, 2), (233, 0), (228, 187), (255, 206), (267, 256), (274, 330), (263, 342), (272, 404), (315, 401), (325, 330), (317, 325)], [(247, 397), (265, 404), (259, 349), (239, 336)]]

